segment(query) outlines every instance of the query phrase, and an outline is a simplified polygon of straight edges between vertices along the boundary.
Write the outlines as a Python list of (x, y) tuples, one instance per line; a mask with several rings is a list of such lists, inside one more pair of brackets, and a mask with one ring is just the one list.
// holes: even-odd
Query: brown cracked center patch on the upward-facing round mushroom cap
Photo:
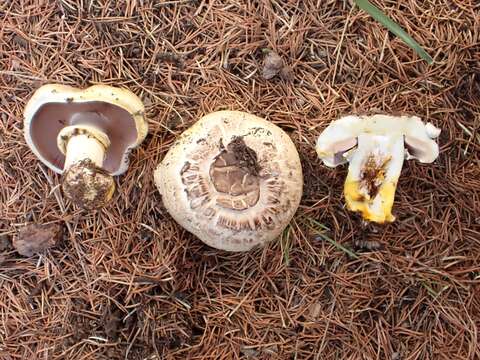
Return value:
[(241, 137), (234, 138), (210, 165), (210, 178), (218, 191), (217, 204), (245, 210), (260, 198), (257, 154)]

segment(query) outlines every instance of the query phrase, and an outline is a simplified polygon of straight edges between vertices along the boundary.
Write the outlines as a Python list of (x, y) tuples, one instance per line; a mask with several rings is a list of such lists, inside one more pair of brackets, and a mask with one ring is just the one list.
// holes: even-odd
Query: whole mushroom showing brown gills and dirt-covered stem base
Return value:
[(129, 152), (145, 139), (148, 125), (141, 100), (128, 90), (49, 84), (28, 101), (24, 131), (40, 161), (63, 174), (65, 195), (97, 209), (112, 198), (113, 176), (127, 170)]

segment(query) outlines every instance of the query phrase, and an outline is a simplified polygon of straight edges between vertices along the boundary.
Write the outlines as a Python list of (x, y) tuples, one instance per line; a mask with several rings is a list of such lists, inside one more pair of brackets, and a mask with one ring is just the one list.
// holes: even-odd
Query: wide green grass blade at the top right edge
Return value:
[(385, 26), (388, 30), (402, 39), (408, 46), (410, 46), (422, 59), (427, 63), (433, 64), (433, 59), (430, 55), (417, 43), (413, 38), (408, 35), (405, 30), (403, 30), (397, 23), (390, 19), (385, 13), (383, 13), (379, 8), (373, 5), (368, 0), (355, 0), (355, 3), (362, 10), (367, 12), (371, 17), (377, 20), (380, 24)]

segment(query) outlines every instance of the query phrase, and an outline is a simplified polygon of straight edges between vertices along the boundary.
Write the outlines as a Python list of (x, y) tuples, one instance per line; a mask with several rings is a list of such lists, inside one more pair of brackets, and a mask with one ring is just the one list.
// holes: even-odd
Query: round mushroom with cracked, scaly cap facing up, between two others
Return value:
[(276, 125), (240, 111), (208, 114), (155, 171), (172, 217), (206, 244), (246, 251), (275, 239), (302, 195), (300, 159)]

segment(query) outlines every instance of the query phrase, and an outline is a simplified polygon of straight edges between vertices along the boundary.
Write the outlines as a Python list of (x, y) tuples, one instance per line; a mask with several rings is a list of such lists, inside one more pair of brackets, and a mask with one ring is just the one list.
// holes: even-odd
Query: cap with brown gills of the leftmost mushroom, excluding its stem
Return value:
[(35, 155), (56, 173), (63, 173), (65, 156), (57, 146), (59, 132), (71, 125), (91, 125), (111, 142), (104, 169), (119, 175), (128, 167), (128, 154), (146, 137), (148, 125), (141, 100), (126, 89), (93, 85), (77, 89), (48, 84), (39, 88), (24, 110), (25, 139)]

